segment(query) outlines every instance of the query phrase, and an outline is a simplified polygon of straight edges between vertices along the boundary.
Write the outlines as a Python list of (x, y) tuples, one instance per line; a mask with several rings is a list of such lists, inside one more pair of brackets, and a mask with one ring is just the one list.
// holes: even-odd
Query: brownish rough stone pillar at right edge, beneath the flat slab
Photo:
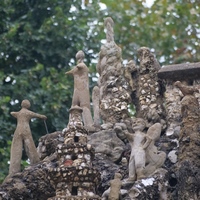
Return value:
[(197, 200), (200, 199), (200, 109), (194, 95), (186, 94), (181, 100), (181, 115), (177, 165), (178, 197)]

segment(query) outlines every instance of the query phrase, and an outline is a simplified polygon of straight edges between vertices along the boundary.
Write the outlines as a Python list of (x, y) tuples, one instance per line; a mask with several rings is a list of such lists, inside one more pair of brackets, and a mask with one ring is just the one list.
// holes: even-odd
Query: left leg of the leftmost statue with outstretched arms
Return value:
[(9, 175), (21, 171), (22, 147), (22, 136), (19, 134), (14, 134), (10, 151)]

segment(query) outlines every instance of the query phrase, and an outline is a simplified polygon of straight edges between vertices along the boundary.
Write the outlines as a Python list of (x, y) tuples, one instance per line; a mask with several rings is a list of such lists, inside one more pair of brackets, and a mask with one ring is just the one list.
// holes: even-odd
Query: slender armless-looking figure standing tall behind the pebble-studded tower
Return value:
[(78, 51), (76, 54), (77, 65), (65, 74), (74, 76), (74, 94), (72, 98), (72, 107), (80, 106), (83, 109), (84, 126), (91, 130), (93, 119), (90, 111), (90, 94), (89, 94), (89, 70), (84, 64), (84, 52)]

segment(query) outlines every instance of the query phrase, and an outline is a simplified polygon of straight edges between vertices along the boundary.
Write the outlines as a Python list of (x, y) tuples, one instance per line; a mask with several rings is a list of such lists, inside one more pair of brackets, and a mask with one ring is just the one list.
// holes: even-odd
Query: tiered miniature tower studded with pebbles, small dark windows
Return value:
[(87, 131), (82, 124), (82, 109), (70, 109), (67, 128), (63, 130), (64, 143), (57, 146), (58, 163), (50, 169), (57, 183), (56, 196), (49, 200), (98, 200), (96, 187), (100, 173), (92, 166), (94, 149), (87, 144)]

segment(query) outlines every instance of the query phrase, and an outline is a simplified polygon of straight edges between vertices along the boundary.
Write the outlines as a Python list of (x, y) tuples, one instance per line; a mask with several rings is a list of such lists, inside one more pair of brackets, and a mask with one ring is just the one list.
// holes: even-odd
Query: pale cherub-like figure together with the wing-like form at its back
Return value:
[(160, 138), (161, 124), (155, 123), (146, 134), (144, 133), (145, 127), (145, 121), (138, 118), (132, 126), (135, 133), (125, 132), (131, 144), (128, 182), (148, 177), (160, 168), (166, 159), (166, 154), (159, 152), (154, 145), (155, 141)]

